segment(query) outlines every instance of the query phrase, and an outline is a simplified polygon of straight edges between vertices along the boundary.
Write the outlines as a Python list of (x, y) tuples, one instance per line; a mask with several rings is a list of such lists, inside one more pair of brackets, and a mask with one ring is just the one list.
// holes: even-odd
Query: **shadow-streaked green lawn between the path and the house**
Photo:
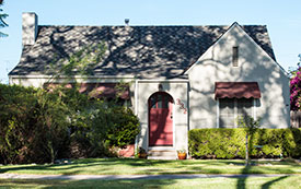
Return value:
[(243, 165), (241, 160), (150, 161), (132, 158), (85, 158), (69, 165), (5, 165), (0, 173), (46, 175), (159, 175), (159, 174), (301, 174), (300, 163), (259, 162)]

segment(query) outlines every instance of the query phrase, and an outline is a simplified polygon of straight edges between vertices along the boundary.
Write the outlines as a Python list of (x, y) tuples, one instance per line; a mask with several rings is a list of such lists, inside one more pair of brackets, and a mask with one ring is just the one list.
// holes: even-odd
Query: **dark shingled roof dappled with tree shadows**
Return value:
[[(24, 46), (19, 64), (9, 75), (53, 75), (59, 62), (79, 47), (104, 42), (107, 50), (93, 75), (185, 78), (184, 72), (229, 26), (38, 26), (33, 46)], [(264, 25), (242, 28), (271, 59), (275, 55)], [(58, 66), (59, 67), (59, 66)], [(77, 73), (74, 73), (76, 75)]]

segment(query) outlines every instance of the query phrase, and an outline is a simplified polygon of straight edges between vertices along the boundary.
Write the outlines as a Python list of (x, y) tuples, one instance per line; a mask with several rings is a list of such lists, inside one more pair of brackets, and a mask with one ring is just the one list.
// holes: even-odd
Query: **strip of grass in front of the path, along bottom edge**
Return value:
[(4, 188), (291, 188), (301, 187), (300, 176), (197, 178), (158, 180), (21, 180), (0, 179)]

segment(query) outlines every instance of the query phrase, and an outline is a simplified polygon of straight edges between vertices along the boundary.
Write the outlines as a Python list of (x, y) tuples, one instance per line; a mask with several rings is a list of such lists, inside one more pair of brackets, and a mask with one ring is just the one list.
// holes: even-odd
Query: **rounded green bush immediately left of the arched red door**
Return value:
[(129, 108), (116, 106), (114, 103), (102, 102), (91, 118), (90, 156), (101, 154), (109, 156), (113, 146), (124, 147), (134, 144), (139, 133), (139, 120)]

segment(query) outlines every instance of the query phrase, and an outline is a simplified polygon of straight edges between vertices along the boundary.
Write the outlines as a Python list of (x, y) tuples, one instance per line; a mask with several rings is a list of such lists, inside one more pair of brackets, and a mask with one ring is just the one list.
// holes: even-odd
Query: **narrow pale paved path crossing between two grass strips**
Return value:
[[(291, 176), (290, 174), (250, 174), (250, 175), (23, 175), (23, 174), (0, 174), (0, 178), (5, 179), (67, 179), (67, 180), (85, 180), (85, 179), (193, 179), (193, 178), (245, 178), (245, 177), (282, 177)], [(300, 176), (300, 175), (298, 175)]]

